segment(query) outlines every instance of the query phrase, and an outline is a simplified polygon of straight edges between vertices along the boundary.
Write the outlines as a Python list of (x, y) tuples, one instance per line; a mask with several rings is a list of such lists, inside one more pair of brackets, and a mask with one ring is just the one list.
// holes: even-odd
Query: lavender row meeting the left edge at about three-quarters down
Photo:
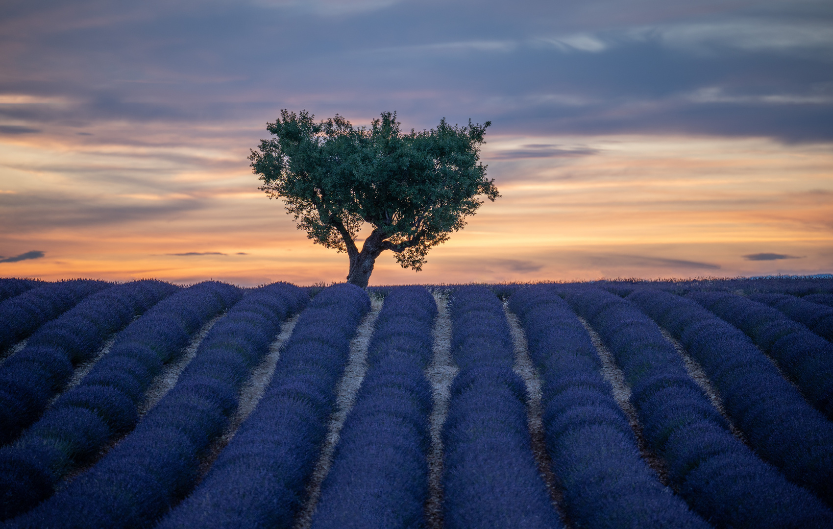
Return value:
[(176, 290), (159, 281), (124, 283), (86, 297), (40, 327), (0, 367), (0, 444), (35, 422), (75, 366), (91, 359), (107, 337)]

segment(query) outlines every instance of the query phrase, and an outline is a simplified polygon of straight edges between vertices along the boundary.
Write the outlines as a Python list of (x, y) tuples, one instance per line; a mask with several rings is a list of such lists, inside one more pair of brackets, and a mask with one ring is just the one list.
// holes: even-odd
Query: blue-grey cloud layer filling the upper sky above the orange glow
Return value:
[(99, 122), (174, 123), (182, 137), (203, 123), (231, 141), (281, 107), (395, 109), (417, 129), (445, 115), (500, 133), (833, 138), (824, 2), (695, 3), (250, 0), (207, 2), (199, 17), (181, 0), (38, 3), (0, 24), (0, 102), (19, 103), (0, 117), (17, 123), (7, 134), (72, 124), (95, 132), (90, 144), (112, 139)]

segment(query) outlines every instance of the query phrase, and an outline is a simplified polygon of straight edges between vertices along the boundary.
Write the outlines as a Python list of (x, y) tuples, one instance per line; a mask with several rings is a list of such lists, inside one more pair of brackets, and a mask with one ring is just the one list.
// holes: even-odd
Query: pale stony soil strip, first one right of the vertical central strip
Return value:
[(562, 508), (564, 495), (561, 492), (561, 487), (558, 486), (558, 478), (552, 472), (550, 454), (546, 452), (544, 425), (541, 422), (543, 412), (541, 377), (538, 376), (535, 366), (532, 365), (532, 358), (529, 356), (529, 349), (526, 347), (526, 333), (523, 332), (521, 322), (518, 321), (516, 314), (509, 310), (508, 302), (503, 302), (503, 312), (506, 313), (506, 320), (509, 321), (509, 329), (515, 349), (515, 365), (512, 369), (526, 383), (526, 416), (531, 436), (532, 455), (535, 457), (541, 479), (544, 480), (546, 485), (546, 492), (550, 495), (552, 507), (556, 508), (559, 517), (561, 517), (561, 522), (564, 522), (566, 527), (571, 527), (566, 512)]

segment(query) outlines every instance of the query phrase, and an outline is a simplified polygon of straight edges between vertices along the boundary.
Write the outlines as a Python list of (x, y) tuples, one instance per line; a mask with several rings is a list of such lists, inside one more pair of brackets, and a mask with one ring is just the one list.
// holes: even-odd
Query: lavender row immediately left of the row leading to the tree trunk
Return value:
[(199, 457), (237, 410), (238, 392), (280, 330), (307, 302), (274, 283), (247, 294), (212, 327), (177, 385), (88, 472), (13, 527), (147, 527), (193, 487)]

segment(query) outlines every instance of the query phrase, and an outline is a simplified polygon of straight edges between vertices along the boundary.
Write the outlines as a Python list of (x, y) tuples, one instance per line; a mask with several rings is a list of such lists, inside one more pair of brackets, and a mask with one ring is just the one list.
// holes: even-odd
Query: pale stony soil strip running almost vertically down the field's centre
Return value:
[(434, 335), (434, 357), (426, 369), (426, 378), (431, 382), (431, 451), (428, 453), (428, 501), (426, 522), (429, 529), (441, 529), (442, 520), (442, 425), (448, 415), (451, 397), (451, 381), (460, 371), (451, 360), (451, 319), (448, 317), (448, 292), (435, 290), (437, 315), (432, 333)]

